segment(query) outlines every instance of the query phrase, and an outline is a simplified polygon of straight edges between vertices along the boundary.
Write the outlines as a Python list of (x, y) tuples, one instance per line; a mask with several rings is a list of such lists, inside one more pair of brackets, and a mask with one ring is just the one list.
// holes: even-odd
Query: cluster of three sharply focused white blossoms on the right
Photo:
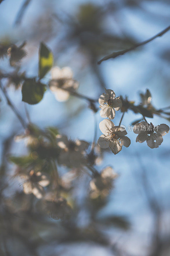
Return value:
[[(122, 101), (120, 97), (115, 98), (114, 91), (105, 89), (105, 92), (99, 97), (100, 116), (114, 119), (115, 110), (117, 111), (122, 108)], [(120, 125), (115, 126), (109, 119), (104, 119), (99, 124), (103, 135), (100, 136), (98, 144), (101, 148), (109, 147), (114, 154), (117, 154), (122, 150), (122, 145), (129, 147), (130, 139), (125, 136), (127, 134), (126, 130), (122, 131)], [(142, 143), (146, 141), (150, 148), (158, 148), (163, 141), (162, 136), (169, 132), (169, 126), (166, 124), (154, 126), (152, 123), (148, 124), (143, 121), (135, 124), (133, 131), (138, 134), (136, 142)]]

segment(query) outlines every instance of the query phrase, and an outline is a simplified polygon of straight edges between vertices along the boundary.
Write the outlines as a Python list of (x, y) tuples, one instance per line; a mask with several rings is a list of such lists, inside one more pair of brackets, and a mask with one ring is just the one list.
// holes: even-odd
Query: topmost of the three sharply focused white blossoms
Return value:
[(122, 100), (120, 97), (115, 98), (115, 92), (110, 89), (105, 89), (106, 93), (103, 93), (99, 97), (100, 104), (100, 116), (109, 119), (114, 119), (115, 110), (119, 110), (122, 108)]

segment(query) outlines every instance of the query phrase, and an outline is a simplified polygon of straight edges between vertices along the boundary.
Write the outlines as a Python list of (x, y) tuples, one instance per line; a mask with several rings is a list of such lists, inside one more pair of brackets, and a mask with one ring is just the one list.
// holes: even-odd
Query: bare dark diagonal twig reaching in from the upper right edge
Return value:
[(105, 56), (103, 59), (99, 60), (99, 61), (98, 61), (98, 64), (100, 64), (100, 63), (101, 63), (102, 61), (104, 61), (104, 60), (108, 60), (108, 59), (111, 59), (111, 58), (112, 58), (112, 59), (115, 59), (115, 58), (118, 57), (119, 55), (123, 55), (124, 53), (130, 52), (130, 51), (136, 49), (137, 47), (139, 47), (139, 46), (141, 46), (141, 45), (147, 44), (147, 43), (151, 42), (152, 40), (154, 40), (155, 38), (157, 38), (157, 37), (159, 37), (159, 36), (163, 36), (163, 35), (164, 35), (166, 32), (168, 32), (169, 30), (170, 30), (170, 26), (168, 26), (167, 28), (165, 28), (164, 30), (162, 30), (159, 34), (157, 34), (156, 36), (151, 37), (151, 38), (148, 39), (148, 40), (145, 40), (145, 41), (143, 41), (143, 42), (141, 42), (141, 43), (135, 44), (134, 46), (132, 46), (132, 47), (130, 47), (130, 48), (128, 48), (128, 49), (125, 49), (125, 50), (123, 50), (123, 51), (113, 52), (113, 53), (111, 53), (111, 54)]

